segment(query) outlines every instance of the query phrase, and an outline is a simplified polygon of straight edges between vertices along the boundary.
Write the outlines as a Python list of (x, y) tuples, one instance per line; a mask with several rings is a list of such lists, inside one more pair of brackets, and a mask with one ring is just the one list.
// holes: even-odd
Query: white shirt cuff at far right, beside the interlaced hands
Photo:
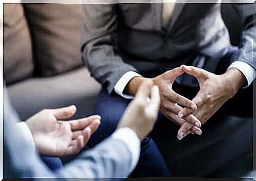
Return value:
[(244, 85), (242, 88), (249, 87), (249, 85), (253, 82), (255, 78), (255, 69), (245, 62), (235, 61), (229, 66), (229, 68), (237, 68), (245, 76), (247, 84)]

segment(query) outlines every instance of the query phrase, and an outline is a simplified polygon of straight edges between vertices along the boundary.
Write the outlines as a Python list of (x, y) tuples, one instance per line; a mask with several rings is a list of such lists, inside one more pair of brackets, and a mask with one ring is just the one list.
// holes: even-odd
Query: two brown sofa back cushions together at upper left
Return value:
[(4, 4), (6, 84), (83, 66), (81, 11), (81, 4)]

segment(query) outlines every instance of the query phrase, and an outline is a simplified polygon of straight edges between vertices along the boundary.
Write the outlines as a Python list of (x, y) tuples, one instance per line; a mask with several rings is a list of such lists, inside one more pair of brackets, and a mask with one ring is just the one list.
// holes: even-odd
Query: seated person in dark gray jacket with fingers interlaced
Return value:
[[(94, 112), (101, 115), (101, 127), (89, 145), (97, 145), (111, 135), (141, 83), (151, 79), (160, 90), (157, 124), (141, 142), (140, 160), (144, 164), (138, 167), (145, 172), (136, 177), (165, 177), (160, 172), (165, 168), (151, 165), (150, 158), (156, 160), (160, 155), (157, 148), (147, 151), (151, 138), (174, 176), (184, 176), (184, 172), (186, 176), (205, 176), (252, 151), (248, 121), (222, 122), (211, 117), (255, 78), (252, 32), (256, 29), (256, 3), (231, 4), (243, 26), (241, 42), (234, 47), (222, 18), (221, 3), (215, 2), (83, 5), (83, 60), (102, 85)], [(189, 66), (183, 66), (183, 71), (176, 68), (183, 64)], [(111, 112), (113, 107), (115, 113)], [(239, 142), (228, 138), (234, 135), (234, 124), (246, 127), (239, 130)], [(194, 135), (184, 139), (189, 133)], [(229, 147), (237, 144), (232, 154), (226, 153), (225, 142)], [(241, 147), (242, 143), (246, 145)], [(202, 160), (211, 160), (212, 164)]]

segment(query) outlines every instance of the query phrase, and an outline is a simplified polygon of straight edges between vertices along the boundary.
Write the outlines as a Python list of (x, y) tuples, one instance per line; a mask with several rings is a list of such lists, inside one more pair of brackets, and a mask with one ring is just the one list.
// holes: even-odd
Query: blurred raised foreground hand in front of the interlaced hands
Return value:
[(128, 105), (118, 128), (129, 127), (143, 140), (153, 129), (160, 104), (159, 89), (152, 81), (145, 81)]

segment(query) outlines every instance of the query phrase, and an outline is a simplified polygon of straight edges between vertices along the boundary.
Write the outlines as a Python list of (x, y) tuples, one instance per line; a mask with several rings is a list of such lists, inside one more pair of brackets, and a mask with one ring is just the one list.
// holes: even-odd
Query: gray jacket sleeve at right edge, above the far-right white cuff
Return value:
[(239, 51), (232, 57), (232, 62), (242, 61), (256, 69), (256, 2), (253, 4), (232, 4), (242, 18), (243, 31)]

